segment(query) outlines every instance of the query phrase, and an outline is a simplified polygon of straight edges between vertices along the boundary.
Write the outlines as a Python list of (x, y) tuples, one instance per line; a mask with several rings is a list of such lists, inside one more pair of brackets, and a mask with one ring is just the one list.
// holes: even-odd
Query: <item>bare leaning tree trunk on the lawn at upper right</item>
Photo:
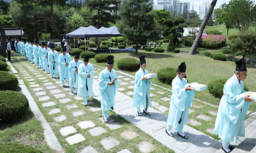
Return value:
[(208, 13), (204, 18), (204, 22), (202, 23), (202, 25), (201, 25), (198, 33), (197, 33), (196, 39), (195, 39), (195, 41), (194, 41), (194, 43), (193, 43), (193, 45), (192, 45), (192, 47), (189, 51), (189, 55), (196, 55), (196, 49), (197, 49), (197, 47), (200, 43), (200, 40), (202, 38), (202, 34), (203, 34), (203, 31), (204, 31), (205, 25), (207, 24), (209, 18), (211, 17), (212, 11), (213, 11), (214, 6), (216, 5), (216, 3), (217, 3), (217, 0), (212, 0), (211, 6), (208, 10)]

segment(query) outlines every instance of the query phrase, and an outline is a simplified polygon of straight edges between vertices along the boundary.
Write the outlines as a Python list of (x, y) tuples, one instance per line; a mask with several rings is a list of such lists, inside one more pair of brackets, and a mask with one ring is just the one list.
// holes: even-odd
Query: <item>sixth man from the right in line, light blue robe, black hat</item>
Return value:
[(79, 56), (80, 56), (80, 52), (76, 52), (74, 60), (72, 60), (68, 66), (70, 92), (73, 93), (73, 87), (75, 87), (76, 94), (78, 90), (78, 79), (79, 79), (78, 68), (80, 64), (82, 64), (82, 61), (79, 61)]

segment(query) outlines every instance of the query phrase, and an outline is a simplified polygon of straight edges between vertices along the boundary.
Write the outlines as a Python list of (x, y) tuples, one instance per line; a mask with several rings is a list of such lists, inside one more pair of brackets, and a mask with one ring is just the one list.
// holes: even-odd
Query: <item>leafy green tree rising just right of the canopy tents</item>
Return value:
[(149, 38), (158, 38), (156, 31), (156, 21), (152, 2), (149, 0), (129, 0), (123, 1), (119, 14), (121, 20), (117, 22), (118, 31), (127, 40), (132, 40), (136, 44), (138, 53), (138, 43), (145, 44)]

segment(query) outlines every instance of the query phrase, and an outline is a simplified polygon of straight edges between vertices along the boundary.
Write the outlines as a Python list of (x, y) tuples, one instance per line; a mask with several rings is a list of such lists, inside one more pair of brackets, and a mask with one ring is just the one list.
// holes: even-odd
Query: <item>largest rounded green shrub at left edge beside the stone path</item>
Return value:
[(29, 109), (26, 96), (16, 91), (0, 91), (0, 122), (14, 122)]

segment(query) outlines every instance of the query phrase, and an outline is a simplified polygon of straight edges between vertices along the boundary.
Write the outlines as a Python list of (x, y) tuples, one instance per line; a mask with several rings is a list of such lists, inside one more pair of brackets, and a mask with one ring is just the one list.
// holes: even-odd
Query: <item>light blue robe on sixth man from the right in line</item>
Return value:
[[(78, 69), (80, 64), (82, 64), (82, 61), (75, 61), (72, 60), (68, 65), (68, 71), (69, 71), (69, 82), (73, 81), (75, 88), (78, 88), (78, 71), (76, 71), (76, 68)], [(71, 85), (70, 85), (71, 87)], [(73, 87), (73, 86), (72, 86)]]

